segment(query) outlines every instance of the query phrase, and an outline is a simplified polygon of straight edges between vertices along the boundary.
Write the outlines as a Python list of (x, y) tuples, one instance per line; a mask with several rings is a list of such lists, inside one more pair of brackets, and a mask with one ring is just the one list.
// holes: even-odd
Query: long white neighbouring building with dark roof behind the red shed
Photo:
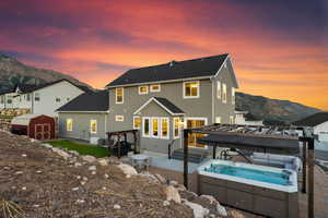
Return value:
[[(28, 109), (31, 113), (57, 117), (56, 109), (85, 92), (68, 80), (42, 85), (17, 85), (7, 92), (1, 106), (4, 109)], [(1, 98), (2, 99), (2, 98)]]

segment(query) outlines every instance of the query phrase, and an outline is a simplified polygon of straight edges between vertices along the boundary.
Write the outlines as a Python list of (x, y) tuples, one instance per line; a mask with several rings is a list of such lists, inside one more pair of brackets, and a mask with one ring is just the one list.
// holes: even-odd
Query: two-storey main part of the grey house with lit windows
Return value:
[[(238, 87), (231, 57), (213, 56), (132, 69), (109, 83), (107, 131), (139, 129), (141, 148), (181, 147), (181, 129), (233, 123)], [(189, 137), (197, 143), (200, 134)]]

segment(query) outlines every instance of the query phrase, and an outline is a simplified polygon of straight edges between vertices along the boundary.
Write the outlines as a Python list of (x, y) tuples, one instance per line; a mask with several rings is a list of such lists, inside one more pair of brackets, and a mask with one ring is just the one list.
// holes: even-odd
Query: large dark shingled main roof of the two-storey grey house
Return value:
[(160, 65), (131, 69), (109, 83), (106, 87), (214, 76), (227, 57), (229, 55), (224, 53), (207, 58), (172, 61)]

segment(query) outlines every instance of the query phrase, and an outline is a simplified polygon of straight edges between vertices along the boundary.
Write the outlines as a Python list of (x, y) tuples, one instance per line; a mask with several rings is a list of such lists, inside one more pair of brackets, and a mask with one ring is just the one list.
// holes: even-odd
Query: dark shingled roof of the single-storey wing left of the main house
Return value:
[(81, 94), (57, 109), (59, 112), (103, 112), (108, 110), (109, 97), (107, 90)]

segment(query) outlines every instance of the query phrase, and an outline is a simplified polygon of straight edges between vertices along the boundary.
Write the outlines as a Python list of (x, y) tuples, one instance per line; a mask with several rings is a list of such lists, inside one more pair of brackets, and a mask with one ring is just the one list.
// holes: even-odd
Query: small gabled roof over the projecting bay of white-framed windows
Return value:
[(181, 116), (185, 114), (185, 112), (179, 109), (176, 105), (167, 100), (166, 98), (160, 98), (160, 97), (152, 97), (150, 98), (145, 104), (143, 104), (138, 110), (133, 112), (133, 114), (138, 114), (145, 106), (148, 106), (150, 102), (156, 102), (160, 107), (162, 107), (164, 110), (166, 110), (172, 116)]

